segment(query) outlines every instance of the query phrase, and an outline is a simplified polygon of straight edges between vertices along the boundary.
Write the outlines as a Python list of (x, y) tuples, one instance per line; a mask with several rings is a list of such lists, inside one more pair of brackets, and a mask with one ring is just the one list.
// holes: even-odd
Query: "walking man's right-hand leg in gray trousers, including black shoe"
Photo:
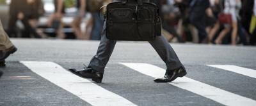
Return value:
[(154, 79), (156, 83), (169, 83), (177, 79), (177, 77), (183, 77), (187, 74), (172, 46), (163, 36), (157, 36), (154, 41), (149, 41), (149, 43), (166, 63), (167, 68), (164, 77)]

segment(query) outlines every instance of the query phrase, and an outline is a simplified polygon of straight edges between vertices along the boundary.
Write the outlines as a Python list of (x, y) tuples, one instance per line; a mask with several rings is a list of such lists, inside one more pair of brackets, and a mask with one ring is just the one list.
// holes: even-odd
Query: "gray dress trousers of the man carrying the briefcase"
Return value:
[[(102, 35), (100, 39), (100, 44), (95, 56), (93, 56), (92, 60), (89, 63), (89, 67), (92, 67), (93, 70), (97, 72), (104, 73), (104, 69), (109, 61), (109, 58), (115, 48), (116, 41), (110, 40), (106, 37), (106, 22), (104, 23), (104, 27), (102, 29)], [(122, 35), (121, 35), (122, 36)], [(153, 48), (157, 51), (158, 55), (165, 62), (167, 69), (173, 70), (179, 67), (184, 67), (172, 46), (166, 41), (163, 36), (157, 36), (154, 41), (148, 41), (148, 43), (153, 46)]]

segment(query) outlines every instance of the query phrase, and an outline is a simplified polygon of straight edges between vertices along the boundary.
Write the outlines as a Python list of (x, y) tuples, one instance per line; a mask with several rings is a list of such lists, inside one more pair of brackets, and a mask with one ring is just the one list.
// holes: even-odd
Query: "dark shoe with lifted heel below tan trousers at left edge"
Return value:
[(8, 56), (15, 53), (17, 51), (17, 48), (15, 46), (12, 46), (11, 48), (8, 48), (7, 50), (1, 50), (0, 51), (0, 61), (5, 60)]

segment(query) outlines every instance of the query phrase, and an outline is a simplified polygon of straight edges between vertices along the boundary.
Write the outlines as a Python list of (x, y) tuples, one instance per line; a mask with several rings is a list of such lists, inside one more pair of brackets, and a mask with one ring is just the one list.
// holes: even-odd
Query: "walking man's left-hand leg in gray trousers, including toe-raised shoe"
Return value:
[(96, 83), (101, 83), (104, 74), (104, 69), (115, 48), (115, 44), (115, 40), (109, 40), (106, 37), (105, 23), (97, 53), (95, 56), (93, 56), (92, 60), (90, 61), (89, 67), (85, 67), (81, 70), (69, 69), (70, 72), (83, 78), (91, 78), (92, 81), (95, 81)]

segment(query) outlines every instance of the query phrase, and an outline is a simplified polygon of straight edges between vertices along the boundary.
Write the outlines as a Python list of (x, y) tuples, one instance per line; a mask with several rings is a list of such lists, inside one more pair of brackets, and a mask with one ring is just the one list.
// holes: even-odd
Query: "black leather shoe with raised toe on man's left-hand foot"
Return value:
[(68, 70), (79, 77), (90, 78), (92, 79), (92, 81), (95, 81), (96, 83), (102, 82), (103, 74), (93, 70), (90, 67), (85, 67), (84, 69), (81, 69), (81, 70), (76, 70), (76, 69), (68, 69)]

